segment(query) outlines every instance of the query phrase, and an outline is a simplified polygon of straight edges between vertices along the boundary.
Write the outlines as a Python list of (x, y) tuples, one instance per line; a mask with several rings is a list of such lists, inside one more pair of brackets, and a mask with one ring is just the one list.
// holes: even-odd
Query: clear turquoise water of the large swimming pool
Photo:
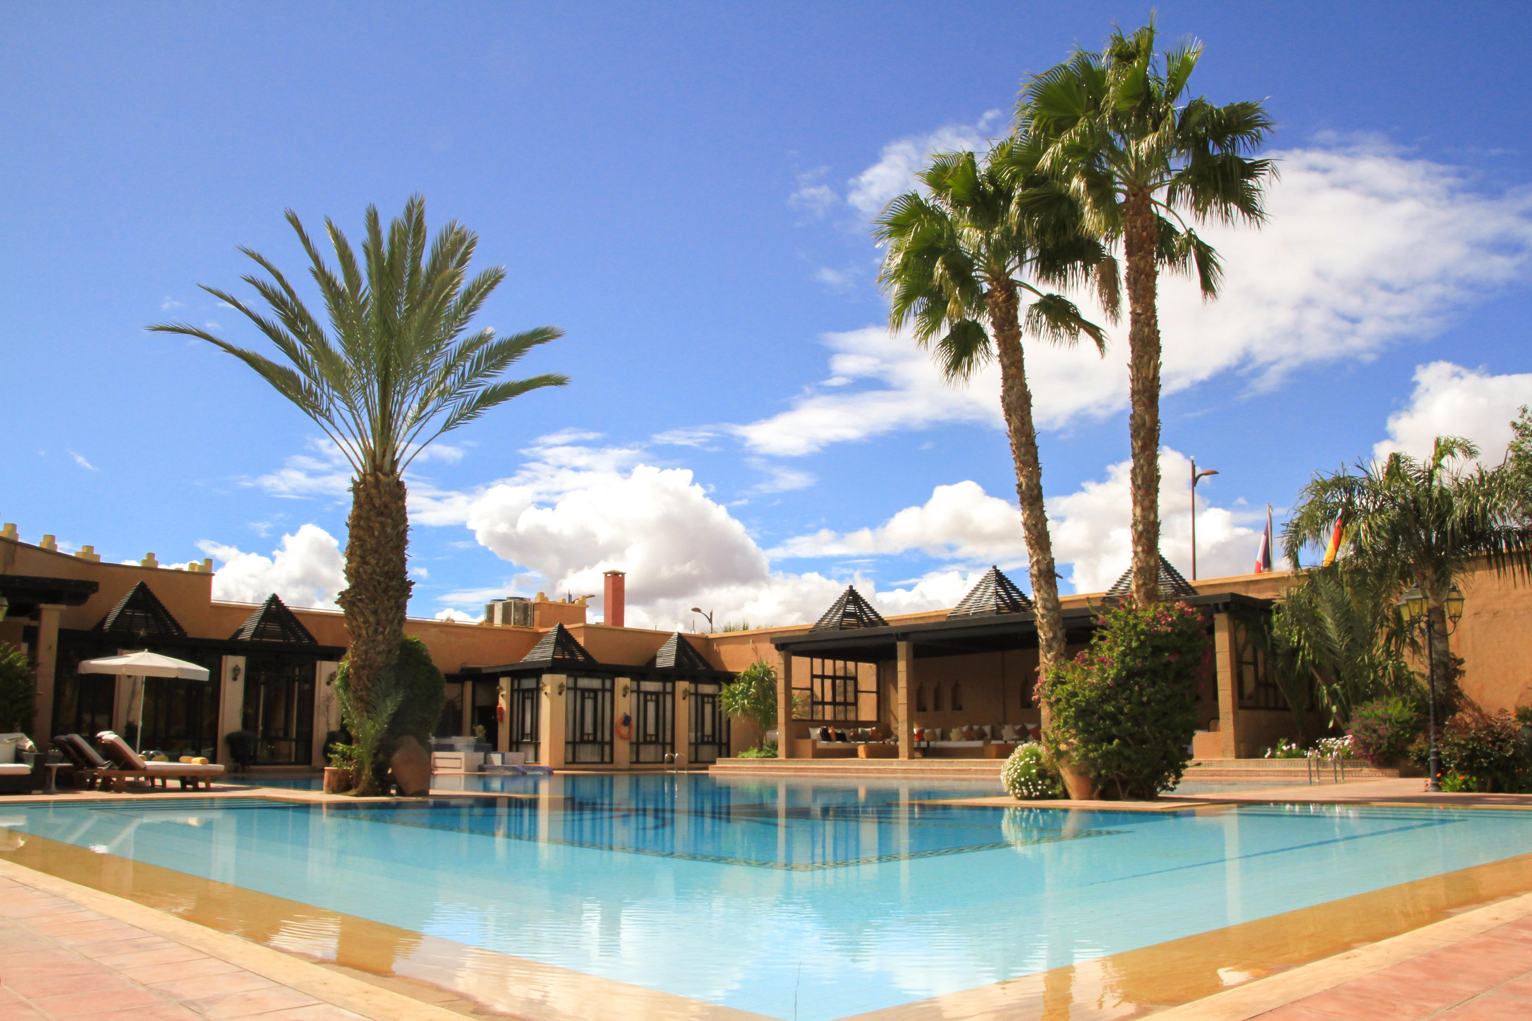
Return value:
[(6, 810), (12, 831), (803, 1021), (1532, 851), (1518, 811), (991, 810), (918, 804), (971, 785), (876, 778), (487, 782), (544, 798)]

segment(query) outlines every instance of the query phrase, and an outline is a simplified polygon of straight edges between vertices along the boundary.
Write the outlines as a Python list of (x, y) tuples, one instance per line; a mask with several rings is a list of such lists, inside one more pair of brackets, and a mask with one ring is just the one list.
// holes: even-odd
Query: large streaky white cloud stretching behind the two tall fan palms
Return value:
[[(869, 208), (907, 188), (908, 167), (924, 159), (913, 142), (895, 148), (864, 175), (856, 194)], [(1365, 361), (1429, 337), (1455, 311), (1526, 274), (1532, 193), (1483, 194), (1452, 167), (1382, 147), (1273, 156), (1282, 178), (1272, 187), (1270, 222), (1201, 228), (1224, 260), (1221, 297), (1203, 302), (1178, 277), (1160, 285), (1166, 393), (1227, 372), (1265, 387), (1314, 363)], [(1098, 317), (1088, 298), (1082, 305)], [(1028, 344), (1043, 429), (1126, 407), (1126, 321), (1108, 332), (1105, 361), (1089, 347)], [(757, 453), (806, 455), (945, 422), (1002, 424), (993, 366), (967, 387), (950, 387), (927, 352), (885, 326), (821, 340), (829, 377), (786, 410), (734, 429)]]

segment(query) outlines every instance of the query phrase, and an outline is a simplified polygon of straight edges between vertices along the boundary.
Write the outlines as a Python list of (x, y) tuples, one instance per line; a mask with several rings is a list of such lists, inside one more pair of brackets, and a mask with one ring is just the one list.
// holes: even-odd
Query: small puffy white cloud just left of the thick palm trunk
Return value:
[(340, 542), (319, 525), (282, 536), (282, 546), (270, 557), (218, 542), (199, 542), (198, 548), (221, 562), (213, 599), (259, 603), (276, 592), (291, 606), (336, 609), (336, 595), (346, 585)]

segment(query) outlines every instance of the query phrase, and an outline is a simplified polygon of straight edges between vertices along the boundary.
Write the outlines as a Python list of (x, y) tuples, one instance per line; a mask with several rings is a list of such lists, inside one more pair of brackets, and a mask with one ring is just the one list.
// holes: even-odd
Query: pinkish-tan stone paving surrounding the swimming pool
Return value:
[[(446, 794), (447, 791), (441, 791)], [(455, 796), (463, 796), (453, 791)], [(329, 801), (317, 791), (224, 785), (211, 794), (169, 798), (251, 798)], [(167, 794), (58, 794), (46, 801), (138, 799)], [(3, 804), (23, 801), (0, 799)], [(31, 798), (25, 801), (32, 801)], [(351, 799), (346, 799), (351, 801)], [(1429, 794), (1420, 779), (1367, 779), (1321, 787), (1261, 788), (1187, 794), (1135, 810), (1226, 810), (1232, 804), (1368, 804), (1532, 810), (1532, 796)], [(1011, 798), (944, 799), (942, 804), (1016, 807)], [(1030, 807), (1123, 810), (1121, 802), (1023, 802)], [(1201, 944), (1161, 944), (1066, 969), (961, 990), (859, 1015), (864, 1021), (974, 1021), (1040, 1018), (1056, 1021), (1141, 1018), (1157, 1021), (1498, 1021), (1532, 1019), (1532, 859), (1497, 863), (1498, 886), (1489, 903), (1446, 905), (1429, 925), (1360, 938), (1321, 960), (1273, 957), (1264, 970), (1229, 972), (1223, 990), (1166, 987), (1161, 995), (1114, 995), (1121, 975), (1157, 954), (1198, 954)], [(1495, 868), (1495, 866), (1480, 866)], [(1507, 871), (1509, 869), (1509, 871)], [(1471, 869), (1472, 871), (1472, 869)], [(1524, 874), (1524, 882), (1523, 880)], [(1514, 892), (1511, 892), (1514, 891)], [(1386, 892), (1386, 891), (1380, 891)], [(1509, 895), (1507, 895), (1509, 892)], [(1324, 906), (1321, 906), (1324, 908)], [(1365, 912), (1363, 912), (1365, 914)], [(1204, 940), (1246, 938), (1261, 946), (1279, 931), (1262, 920), (1241, 937), (1233, 926)], [(1224, 937), (1223, 934), (1229, 934)], [(1287, 948), (1291, 952), (1291, 948)], [(1135, 961), (1132, 955), (1141, 955)], [(1302, 963), (1299, 963), (1302, 961)], [(1149, 969), (1154, 972), (1155, 969)], [(1172, 969), (1174, 970), (1174, 969)], [(1120, 993), (1121, 989), (1117, 990)], [(1192, 993), (1195, 998), (1192, 998)], [(1210, 993), (1210, 995), (1209, 995)], [(668, 998), (673, 1006), (676, 1000)], [(633, 1003), (631, 1000), (628, 1003)], [(639, 1018), (708, 1018), (743, 1012), (643, 1009)], [(1175, 1004), (1175, 1006), (1172, 1006)], [(627, 1012), (624, 1012), (627, 1013)], [(450, 1021), (516, 1016), (458, 992), (400, 975), (366, 975), (317, 963), (230, 932), (211, 929), (58, 876), (0, 859), (0, 1021), (37, 1018), (195, 1018), (265, 1021)], [(576, 1015), (568, 1015), (576, 1021)], [(619, 1016), (604, 1012), (591, 1016)], [(581, 1018), (581, 1021), (584, 1021)]]

